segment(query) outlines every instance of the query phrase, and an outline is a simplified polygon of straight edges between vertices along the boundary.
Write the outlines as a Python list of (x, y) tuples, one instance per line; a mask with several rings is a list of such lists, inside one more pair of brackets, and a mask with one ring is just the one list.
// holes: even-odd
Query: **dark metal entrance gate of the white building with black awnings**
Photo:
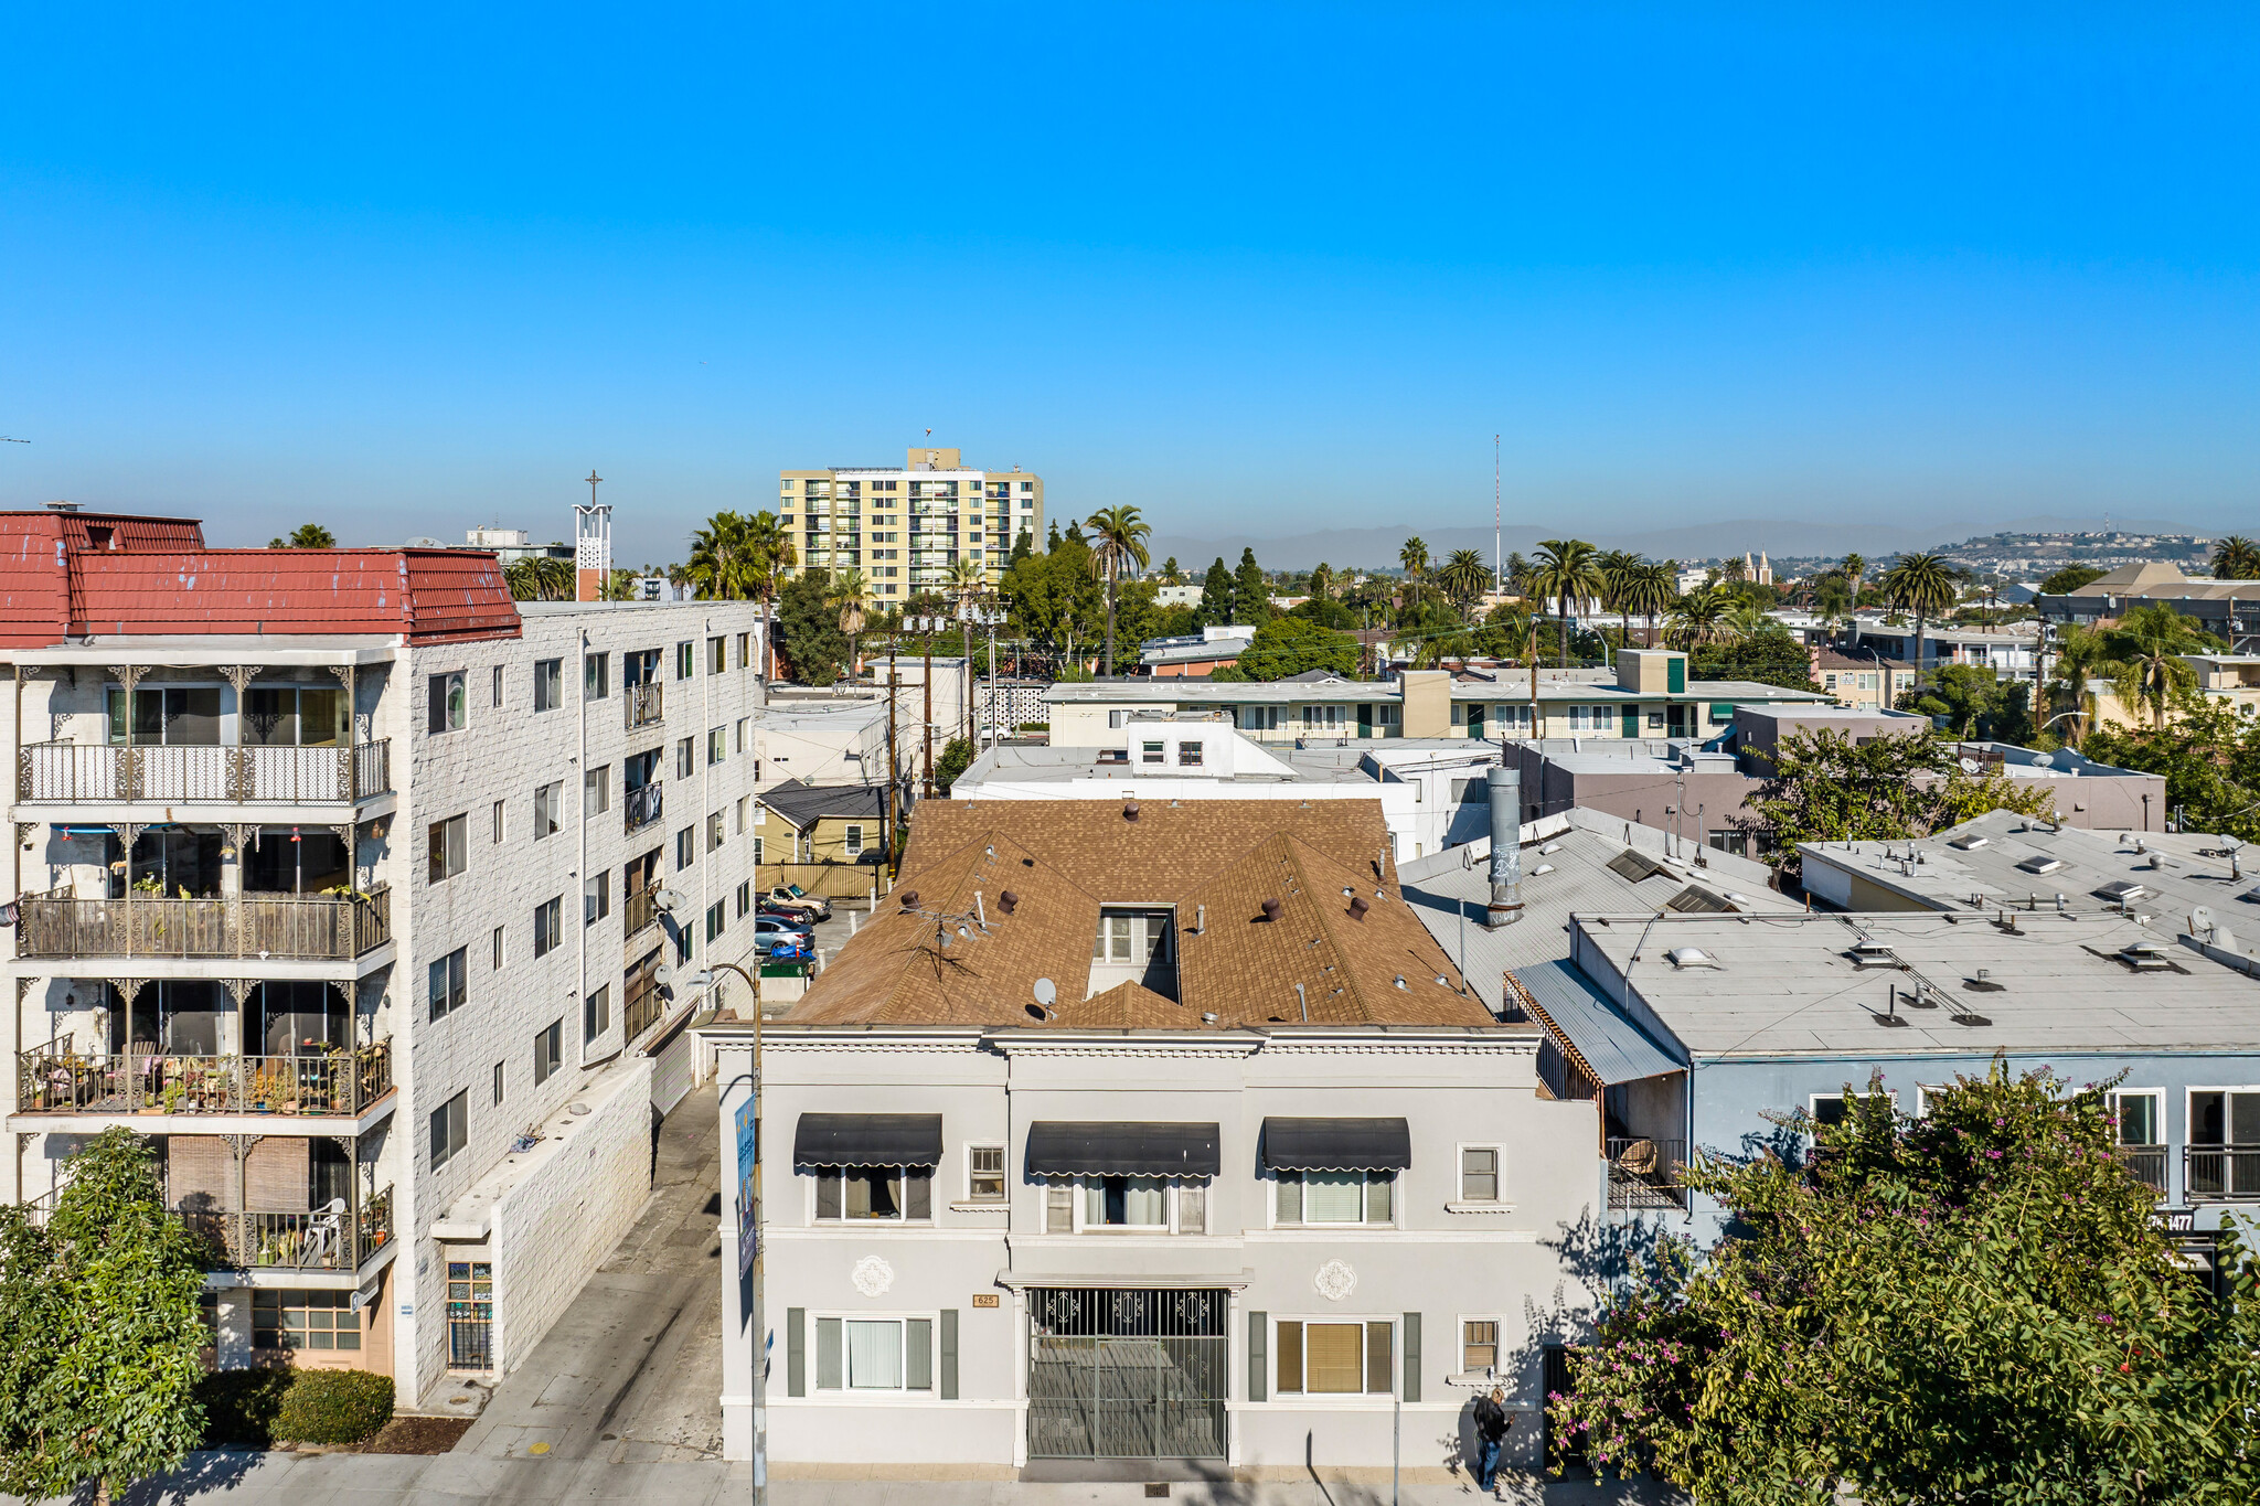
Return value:
[(1031, 1459), (1223, 1459), (1225, 1292), (1028, 1292)]

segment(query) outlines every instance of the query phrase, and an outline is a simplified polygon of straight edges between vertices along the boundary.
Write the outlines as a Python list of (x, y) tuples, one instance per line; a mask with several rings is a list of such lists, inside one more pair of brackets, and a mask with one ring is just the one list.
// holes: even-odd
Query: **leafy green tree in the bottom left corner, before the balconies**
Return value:
[(43, 1228), (0, 1208), (0, 1490), (93, 1483), (106, 1501), (203, 1434), (203, 1249), (131, 1129), (102, 1131), (66, 1172)]

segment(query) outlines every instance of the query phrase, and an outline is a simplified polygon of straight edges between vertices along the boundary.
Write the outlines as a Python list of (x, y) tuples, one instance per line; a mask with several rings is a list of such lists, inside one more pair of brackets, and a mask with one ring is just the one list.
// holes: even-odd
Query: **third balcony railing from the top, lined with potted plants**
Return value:
[(16, 1052), (16, 1113), (289, 1113), (359, 1118), (393, 1091), (391, 1041), (323, 1057), (79, 1054), (70, 1036)]

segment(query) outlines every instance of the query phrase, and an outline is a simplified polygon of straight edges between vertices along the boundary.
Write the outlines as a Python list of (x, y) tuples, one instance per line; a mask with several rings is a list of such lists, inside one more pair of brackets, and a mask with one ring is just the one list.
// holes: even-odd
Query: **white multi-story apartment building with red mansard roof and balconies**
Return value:
[(7, 513), (0, 551), (7, 1192), (131, 1127), (219, 1364), (513, 1368), (649, 1192), (660, 962), (750, 944), (755, 607), (190, 519)]

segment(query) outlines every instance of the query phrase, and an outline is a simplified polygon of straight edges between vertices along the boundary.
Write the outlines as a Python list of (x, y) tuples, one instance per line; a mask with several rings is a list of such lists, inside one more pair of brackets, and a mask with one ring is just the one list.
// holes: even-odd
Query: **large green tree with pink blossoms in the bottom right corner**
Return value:
[(1880, 1084), (1817, 1154), (1704, 1161), (1729, 1233), (1571, 1352), (1555, 1429), (1700, 1506), (2222, 1504), (2260, 1497), (2260, 1280), (2176, 1264), (2115, 1152), (2109, 1088), (2045, 1070)]

